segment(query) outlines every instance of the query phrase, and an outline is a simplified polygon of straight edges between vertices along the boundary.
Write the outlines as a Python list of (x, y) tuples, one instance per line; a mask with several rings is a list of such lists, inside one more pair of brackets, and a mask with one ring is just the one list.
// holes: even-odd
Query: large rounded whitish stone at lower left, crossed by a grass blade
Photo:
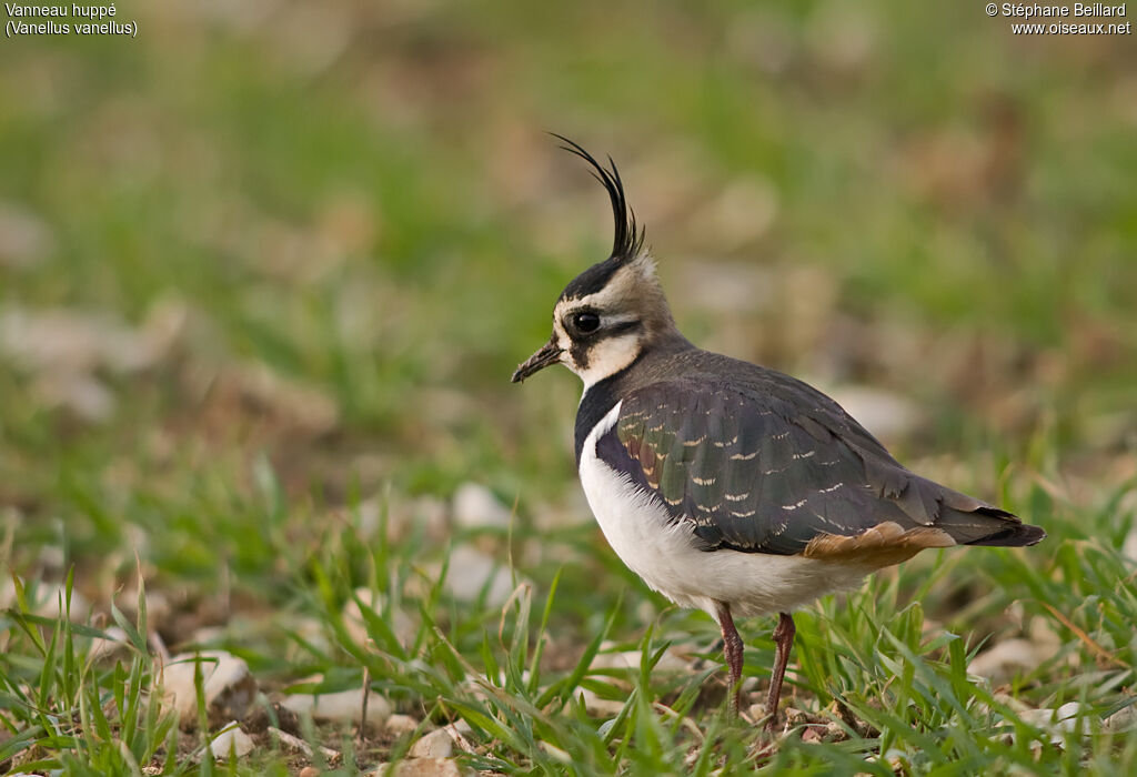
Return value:
[[(200, 658), (200, 661), (197, 659)], [(201, 666), (201, 685), (210, 716), (240, 720), (257, 695), (257, 680), (249, 665), (231, 653), (207, 650), (175, 655), (163, 669), (166, 701), (177, 711), (183, 727), (197, 722), (198, 699), (193, 685), (194, 666)]]

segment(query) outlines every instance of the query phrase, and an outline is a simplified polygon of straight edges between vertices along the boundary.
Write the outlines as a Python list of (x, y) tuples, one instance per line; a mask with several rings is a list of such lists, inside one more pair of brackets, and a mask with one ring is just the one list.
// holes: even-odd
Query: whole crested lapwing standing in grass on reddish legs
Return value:
[(558, 364), (582, 379), (574, 443), (589, 507), (650, 588), (717, 621), (731, 717), (744, 651), (735, 619), (778, 616), (773, 733), (795, 610), (926, 549), (1034, 545), (1046, 533), (908, 470), (813, 386), (688, 341), (612, 157), (605, 166), (554, 137), (606, 190), (612, 251), (564, 287), (551, 336), (512, 381)]

